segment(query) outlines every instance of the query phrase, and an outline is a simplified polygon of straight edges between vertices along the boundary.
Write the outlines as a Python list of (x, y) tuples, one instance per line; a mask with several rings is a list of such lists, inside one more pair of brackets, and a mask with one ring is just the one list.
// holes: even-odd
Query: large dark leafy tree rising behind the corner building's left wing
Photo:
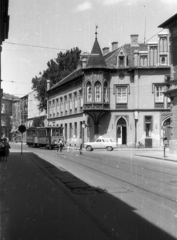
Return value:
[(81, 50), (77, 47), (65, 53), (58, 53), (56, 59), (51, 59), (47, 63), (47, 69), (41, 76), (32, 79), (32, 89), (37, 91), (40, 111), (47, 110), (47, 80), (50, 79), (51, 86), (53, 86), (73, 72), (77, 68), (80, 53)]

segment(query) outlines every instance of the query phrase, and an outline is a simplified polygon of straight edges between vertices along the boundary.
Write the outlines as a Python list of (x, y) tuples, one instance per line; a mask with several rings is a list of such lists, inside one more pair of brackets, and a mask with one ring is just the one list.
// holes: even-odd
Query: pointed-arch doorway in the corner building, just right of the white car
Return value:
[(117, 143), (119, 145), (127, 144), (127, 123), (123, 117), (117, 122)]

